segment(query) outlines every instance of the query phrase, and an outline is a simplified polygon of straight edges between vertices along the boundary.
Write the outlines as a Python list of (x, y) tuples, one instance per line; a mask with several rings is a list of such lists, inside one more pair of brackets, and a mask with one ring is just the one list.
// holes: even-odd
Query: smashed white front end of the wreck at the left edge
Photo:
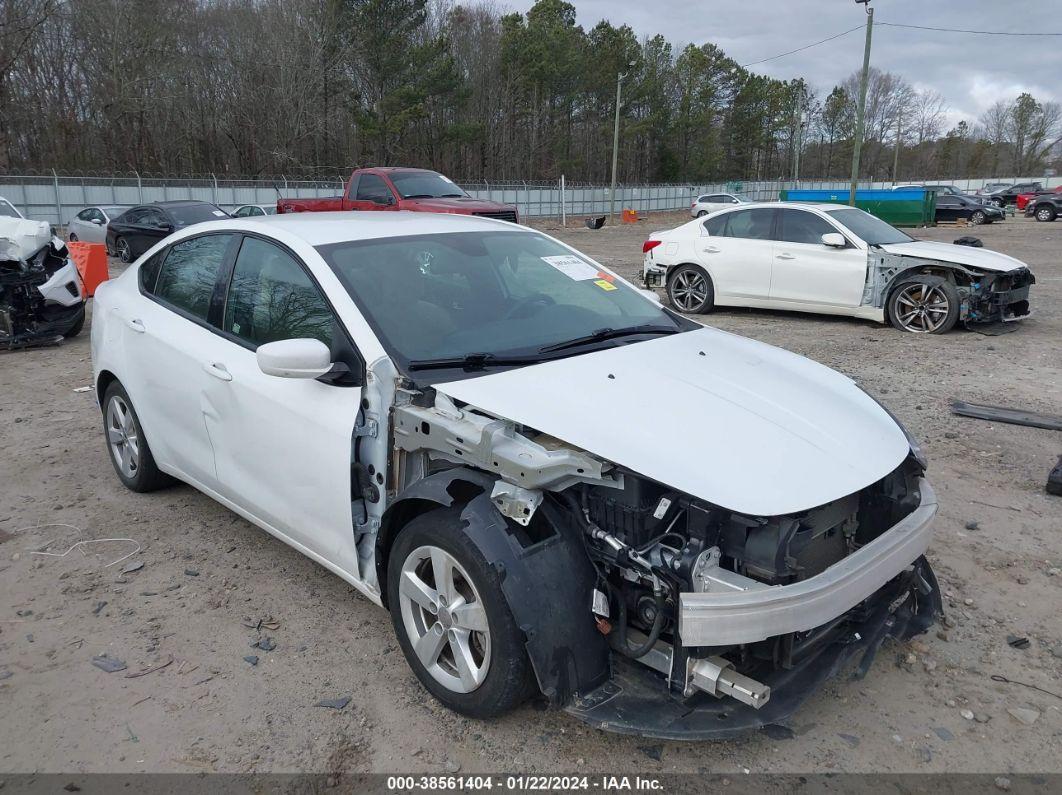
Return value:
[(84, 319), (84, 288), (63, 241), (44, 222), (0, 219), (0, 349), (61, 342)]

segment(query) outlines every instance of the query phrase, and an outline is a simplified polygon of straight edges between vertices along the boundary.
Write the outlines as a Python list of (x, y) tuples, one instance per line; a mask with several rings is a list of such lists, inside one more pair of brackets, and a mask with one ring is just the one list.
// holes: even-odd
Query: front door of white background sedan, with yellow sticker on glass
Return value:
[(867, 252), (851, 241), (844, 248), (823, 245), (827, 232), (840, 229), (808, 210), (778, 210), (771, 300), (780, 308), (790, 303), (859, 306), (867, 282)]

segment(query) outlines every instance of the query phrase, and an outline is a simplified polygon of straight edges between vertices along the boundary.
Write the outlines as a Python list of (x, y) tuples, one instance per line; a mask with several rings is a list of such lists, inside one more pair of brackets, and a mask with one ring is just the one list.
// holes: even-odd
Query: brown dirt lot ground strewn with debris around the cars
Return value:
[[(646, 235), (679, 220), (554, 234), (633, 275)], [(1038, 276), (1035, 315), (1013, 333), (920, 338), (747, 310), (704, 317), (880, 396), (924, 440), (940, 497), (930, 558), (947, 624), (887, 645), (862, 681), (833, 680), (789, 739), (658, 742), (530, 705), (494, 723), (456, 716), (421, 689), (387, 613), (338, 577), (191, 488), (141, 496), (119, 484), (95, 395), (74, 391), (91, 380), (87, 329), (59, 348), (0, 355), (0, 771), (1062, 771), (1062, 699), (990, 678), (1062, 693), (1062, 499), (1044, 494), (1062, 436), (948, 412), (958, 397), (1062, 413), (1062, 223), (976, 234)], [(30, 554), (112, 537), (140, 551), (110, 567), (136, 546)], [(277, 624), (261, 635), (276, 647), (251, 649), (259, 633), (245, 621), (267, 617)], [(127, 670), (93, 667), (101, 654)], [(314, 707), (344, 695), (342, 711)], [(1014, 708), (1033, 710), (1020, 713), (1031, 725)]]

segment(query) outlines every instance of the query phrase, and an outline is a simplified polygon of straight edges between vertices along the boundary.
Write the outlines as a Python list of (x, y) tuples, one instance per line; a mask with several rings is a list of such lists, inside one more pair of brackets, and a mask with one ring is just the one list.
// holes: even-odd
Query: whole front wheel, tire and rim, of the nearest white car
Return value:
[(531, 694), (524, 633), (459, 511), (422, 514), (401, 531), (388, 564), (388, 606), (406, 660), (444, 706), (494, 718)]

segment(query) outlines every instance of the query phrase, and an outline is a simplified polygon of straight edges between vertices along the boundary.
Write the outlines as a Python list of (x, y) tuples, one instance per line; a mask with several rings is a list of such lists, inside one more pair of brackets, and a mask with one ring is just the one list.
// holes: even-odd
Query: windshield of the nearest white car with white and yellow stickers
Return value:
[(695, 327), (533, 231), (419, 235), (318, 250), (389, 353), (400, 366), (413, 362), (411, 369), (468, 357), (530, 364), (619, 344), (615, 338)]

